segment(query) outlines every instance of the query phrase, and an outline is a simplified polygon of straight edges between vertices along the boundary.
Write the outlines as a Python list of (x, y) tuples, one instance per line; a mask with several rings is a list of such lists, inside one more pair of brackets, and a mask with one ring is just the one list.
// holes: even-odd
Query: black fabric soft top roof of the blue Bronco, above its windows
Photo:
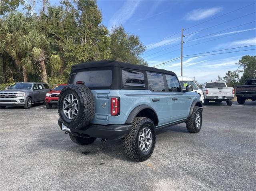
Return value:
[(73, 65), (72, 70), (98, 68), (98, 67), (121, 67), (121, 68), (126, 68), (126, 69), (144, 70), (144, 71), (150, 71), (150, 72), (176, 75), (174, 72), (168, 71), (168, 70), (157, 69), (157, 68), (153, 68), (153, 67), (147, 67), (147, 66), (136, 65), (136, 64), (129, 64), (129, 63), (119, 62), (119, 61), (115, 61), (115, 60), (100, 60), (100, 61), (83, 62), (80, 64)]

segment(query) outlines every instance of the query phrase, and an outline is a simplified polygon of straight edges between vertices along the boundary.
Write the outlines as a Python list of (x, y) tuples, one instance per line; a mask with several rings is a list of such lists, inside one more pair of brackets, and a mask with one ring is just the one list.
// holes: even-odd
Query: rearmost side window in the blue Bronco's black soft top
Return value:
[(126, 87), (137, 86), (145, 87), (144, 74), (142, 72), (122, 70), (123, 85)]

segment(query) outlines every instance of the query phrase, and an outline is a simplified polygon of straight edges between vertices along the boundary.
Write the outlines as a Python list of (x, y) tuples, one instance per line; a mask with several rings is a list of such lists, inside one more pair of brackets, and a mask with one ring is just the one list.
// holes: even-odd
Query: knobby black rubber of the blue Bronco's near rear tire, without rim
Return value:
[[(148, 147), (147, 151), (142, 151), (140, 149), (139, 137), (142, 130), (145, 128), (147, 130), (149, 129), (151, 132), (151, 145)], [(128, 158), (138, 162), (145, 161), (146, 159), (150, 158), (151, 154), (153, 153), (155, 144), (156, 129), (152, 120), (146, 117), (136, 117), (134, 122), (132, 122), (132, 130), (124, 137), (123, 142), (123, 148)]]

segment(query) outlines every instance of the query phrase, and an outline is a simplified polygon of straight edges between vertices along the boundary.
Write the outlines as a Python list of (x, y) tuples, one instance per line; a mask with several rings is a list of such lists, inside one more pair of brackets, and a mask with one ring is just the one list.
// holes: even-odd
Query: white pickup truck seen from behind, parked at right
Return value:
[(226, 101), (227, 105), (232, 105), (234, 98), (234, 88), (227, 87), (225, 82), (206, 82), (202, 86), (204, 93), (204, 104), (208, 105), (209, 101), (222, 102)]

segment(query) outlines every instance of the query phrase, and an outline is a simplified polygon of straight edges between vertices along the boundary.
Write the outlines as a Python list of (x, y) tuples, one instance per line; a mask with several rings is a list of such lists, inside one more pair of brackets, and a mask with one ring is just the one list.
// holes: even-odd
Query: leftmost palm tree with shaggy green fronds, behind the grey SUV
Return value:
[(31, 18), (18, 12), (10, 14), (2, 22), (0, 28), (0, 49), (4, 49), (14, 59), (16, 65), (22, 67), (24, 82), (28, 81), (28, 75), (21, 60), (25, 57), (26, 52), (32, 48), (27, 35), (35, 27), (36, 25)]

